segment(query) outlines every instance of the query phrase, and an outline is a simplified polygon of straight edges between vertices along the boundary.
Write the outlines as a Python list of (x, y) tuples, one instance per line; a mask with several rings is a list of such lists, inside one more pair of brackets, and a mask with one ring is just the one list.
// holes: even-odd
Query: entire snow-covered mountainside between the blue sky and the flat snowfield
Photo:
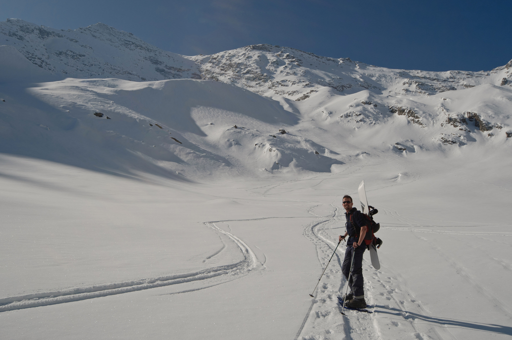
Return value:
[[(101, 141), (113, 153), (128, 152), (99, 162), (116, 168), (129, 159), (123, 172), (133, 157), (173, 174), (325, 172), (345, 162), (330, 146), (338, 135), (351, 136), (343, 141), (347, 147), (405, 154), (475, 142), (508, 147), (512, 137), (512, 60), (488, 72), (425, 72), (270, 45), (182, 56), (104, 24), (63, 31), (19, 19), (0, 23), (0, 45), (0, 77), (11, 84), (1, 110), (13, 115), (9, 124), (4, 120), (4, 136), (40, 144), (32, 140), (39, 134), (22, 132), (35, 129), (34, 120), (37, 129), (51, 131), (53, 145), (67, 144), (62, 129), (94, 131), (93, 140), (75, 134), (77, 144)], [(34, 83), (26, 87), (30, 94), (14, 90), (19, 82)], [(52, 114), (42, 118), (35, 98)], [(16, 115), (20, 107), (33, 115)], [(33, 155), (18, 147), (23, 143), (11, 138), (1, 151)], [(55, 147), (35, 153), (45, 157)]]

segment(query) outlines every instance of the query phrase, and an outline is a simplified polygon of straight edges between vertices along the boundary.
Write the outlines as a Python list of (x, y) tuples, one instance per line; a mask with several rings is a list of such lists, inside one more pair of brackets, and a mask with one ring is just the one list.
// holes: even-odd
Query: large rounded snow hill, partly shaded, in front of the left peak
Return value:
[[(92, 150), (106, 148), (139, 160), (136, 164), (143, 161), (137, 166), (133, 161), (116, 165), (103, 160), (123, 171), (150, 166), (193, 179), (281, 169), (328, 172), (332, 164), (343, 163), (325, 146), (280, 129), (294, 126), (298, 117), (278, 102), (220, 82), (69, 78), (29, 91), (55, 108), (53, 121), (42, 125), (49, 126), (46, 133), (58, 143), (66, 143), (63, 134), (74, 131), (76, 142), (91, 145)], [(30, 126), (23, 122), (27, 117), (11, 115), (19, 129)], [(61, 126), (61, 120), (68, 123)], [(95, 138), (82, 139), (86, 131)], [(67, 161), (76, 164), (81, 159), (77, 156), (78, 160), (68, 156)]]

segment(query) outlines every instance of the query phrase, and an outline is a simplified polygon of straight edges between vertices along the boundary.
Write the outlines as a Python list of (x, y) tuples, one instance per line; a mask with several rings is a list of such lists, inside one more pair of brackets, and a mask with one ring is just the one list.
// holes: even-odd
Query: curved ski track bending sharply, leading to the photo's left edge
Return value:
[[(221, 221), (218, 221), (221, 222)], [(10, 296), (8, 298), (0, 299), (0, 312), (10, 311), (10, 310), (18, 310), (32, 307), (41, 307), (41, 306), (50, 306), (62, 303), (76, 302), (88, 299), (101, 298), (103, 296), (116, 295), (122, 293), (135, 292), (139, 290), (152, 289), (157, 287), (164, 287), (170, 285), (183, 284), (188, 282), (197, 282), (204, 281), (210, 279), (216, 279), (216, 283), (208, 285), (207, 287), (196, 288), (196, 289), (187, 289), (180, 291), (190, 292), (199, 289), (204, 289), (212, 286), (216, 286), (225, 282), (229, 282), (235, 279), (239, 279), (251, 272), (254, 269), (258, 269), (262, 267), (263, 264), (259, 263), (254, 252), (238, 237), (232, 235), (231, 233), (219, 228), (215, 223), (218, 222), (205, 222), (204, 224), (209, 228), (214, 229), (216, 232), (223, 234), (229, 239), (231, 239), (234, 244), (240, 249), (244, 256), (244, 260), (218, 267), (212, 267), (203, 269), (196, 272), (184, 273), (184, 274), (176, 274), (176, 275), (168, 275), (165, 277), (151, 278), (151, 279), (141, 279), (141, 280), (133, 280), (133, 281), (124, 281), (117, 283), (108, 283), (104, 285), (94, 285), (94, 286), (86, 286), (86, 287), (76, 287), (62, 290), (55, 290), (50, 292), (38, 292), (33, 294), (19, 295), (19, 296)], [(222, 221), (223, 222), (223, 221)], [(221, 239), (222, 241), (222, 239)], [(222, 242), (223, 247), (211, 254), (207, 259), (211, 259), (212, 257), (219, 254), (224, 248), (226, 244)], [(203, 261), (204, 262), (204, 261)], [(220, 277), (227, 278), (227, 281), (222, 281)], [(221, 280), (222, 282), (218, 282)]]

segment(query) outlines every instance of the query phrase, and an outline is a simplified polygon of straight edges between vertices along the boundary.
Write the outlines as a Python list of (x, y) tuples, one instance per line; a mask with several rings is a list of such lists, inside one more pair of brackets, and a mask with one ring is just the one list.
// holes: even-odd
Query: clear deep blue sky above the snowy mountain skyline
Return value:
[(0, 3), (0, 20), (19, 18), (56, 29), (101, 22), (184, 55), (271, 44), (425, 71), (488, 71), (512, 59), (512, 0)]

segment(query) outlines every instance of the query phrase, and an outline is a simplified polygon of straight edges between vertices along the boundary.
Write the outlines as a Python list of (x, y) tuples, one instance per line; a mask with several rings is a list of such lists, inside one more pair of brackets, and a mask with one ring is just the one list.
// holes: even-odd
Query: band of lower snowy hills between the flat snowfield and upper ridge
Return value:
[[(18, 68), (21, 73), (24, 66)], [(330, 172), (348, 160), (333, 150), (336, 140), (348, 150), (356, 145), (370, 154), (407, 156), (475, 142), (506, 147), (512, 136), (505, 114), (512, 92), (492, 85), (412, 98), (365, 90), (288, 102), (287, 110), (278, 101), (207, 80), (69, 78), (40, 83), (29, 94), (4, 89), (3, 152), (185, 181)], [(71, 145), (72, 154), (62, 150)]]

